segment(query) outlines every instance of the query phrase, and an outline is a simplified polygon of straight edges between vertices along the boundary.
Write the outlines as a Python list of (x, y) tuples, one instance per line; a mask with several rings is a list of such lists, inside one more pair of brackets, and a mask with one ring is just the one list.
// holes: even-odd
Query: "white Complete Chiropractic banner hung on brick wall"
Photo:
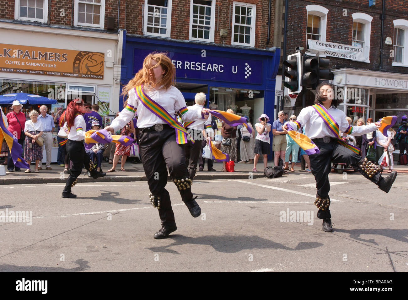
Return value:
[(365, 62), (364, 48), (355, 47), (344, 44), (337, 44), (332, 42), (321, 42), (317, 40), (307, 40), (309, 49), (319, 51), (319, 53), (326, 56), (333, 56), (337, 58), (344, 58), (355, 60), (358, 62)]

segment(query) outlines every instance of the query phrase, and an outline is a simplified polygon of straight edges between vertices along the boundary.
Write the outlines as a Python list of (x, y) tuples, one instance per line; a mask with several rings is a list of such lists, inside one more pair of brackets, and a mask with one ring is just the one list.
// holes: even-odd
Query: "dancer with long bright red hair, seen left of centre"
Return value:
[(84, 139), (86, 124), (84, 117), (84, 102), (82, 99), (75, 99), (69, 102), (67, 109), (60, 117), (60, 126), (64, 126), (68, 132), (68, 141), (65, 146), (70, 160), (72, 161), (71, 174), (68, 177), (64, 190), (62, 191), (62, 198), (75, 198), (71, 192), (71, 188), (77, 183), (77, 178), (82, 172), (82, 167), (85, 164), (85, 169), (91, 174), (89, 177), (97, 179), (103, 177), (106, 173), (96, 171), (95, 165), (85, 152)]

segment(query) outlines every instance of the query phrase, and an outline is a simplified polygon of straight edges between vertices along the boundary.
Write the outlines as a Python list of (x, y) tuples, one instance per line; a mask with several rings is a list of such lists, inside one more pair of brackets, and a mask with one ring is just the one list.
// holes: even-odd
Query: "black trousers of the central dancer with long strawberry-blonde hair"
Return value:
[[(168, 176), (167, 168), (173, 180), (188, 178), (184, 144), (177, 144), (173, 128), (164, 127), (160, 132), (142, 132), (139, 150), (149, 190), (154, 196), (160, 197), (160, 209), (158, 211), (162, 225), (175, 225), (170, 195), (165, 189)], [(193, 199), (191, 188), (179, 192), (183, 201)]]

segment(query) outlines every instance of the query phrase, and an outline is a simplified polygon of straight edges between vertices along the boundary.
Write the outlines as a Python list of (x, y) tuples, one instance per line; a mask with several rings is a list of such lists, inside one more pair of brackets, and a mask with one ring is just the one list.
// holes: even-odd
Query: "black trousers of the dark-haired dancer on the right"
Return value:
[[(328, 144), (324, 142), (317, 142), (315, 140), (313, 140), (313, 142), (315, 142), (316, 146), (320, 149), (319, 154), (309, 155), (310, 170), (312, 171), (312, 174), (315, 176), (316, 180), (317, 196), (320, 196), (321, 198), (328, 197), (328, 193), (330, 191), (329, 174), (331, 172), (332, 162), (348, 163), (351, 167), (357, 167), (357, 170), (363, 174), (364, 177), (368, 178), (360, 167), (359, 162), (361, 161), (361, 156), (359, 156), (357, 153), (339, 144), (335, 140), (332, 140)], [(381, 175), (377, 173), (375, 176), (368, 179), (375, 184), (378, 184), (380, 177)], [(331, 218), (330, 210), (327, 209), (327, 211), (322, 211), (319, 209), (317, 212), (317, 218)]]

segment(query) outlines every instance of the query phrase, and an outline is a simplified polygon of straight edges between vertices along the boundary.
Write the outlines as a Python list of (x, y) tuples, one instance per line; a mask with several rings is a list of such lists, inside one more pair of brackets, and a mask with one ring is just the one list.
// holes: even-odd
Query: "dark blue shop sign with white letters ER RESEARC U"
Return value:
[[(135, 49), (133, 72), (142, 68), (143, 59), (151, 50)], [(176, 77), (262, 84), (262, 60), (211, 56), (207, 51), (197, 54), (169, 52), (176, 68)]]

